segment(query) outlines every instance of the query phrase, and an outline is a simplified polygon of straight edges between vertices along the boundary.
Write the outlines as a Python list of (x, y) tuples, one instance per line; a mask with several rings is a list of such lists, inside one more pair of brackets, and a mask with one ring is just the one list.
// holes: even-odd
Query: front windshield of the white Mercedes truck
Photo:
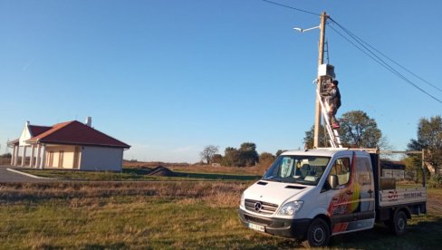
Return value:
[(329, 160), (329, 157), (317, 156), (280, 156), (263, 179), (316, 186)]

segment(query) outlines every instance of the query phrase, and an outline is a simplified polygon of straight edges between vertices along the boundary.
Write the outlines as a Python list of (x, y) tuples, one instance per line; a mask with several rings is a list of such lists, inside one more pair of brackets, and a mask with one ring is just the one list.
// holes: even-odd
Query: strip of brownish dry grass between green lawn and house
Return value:
[(23, 201), (97, 197), (173, 197), (218, 200), (228, 206), (239, 204), (242, 182), (48, 182), (0, 184), (0, 205)]

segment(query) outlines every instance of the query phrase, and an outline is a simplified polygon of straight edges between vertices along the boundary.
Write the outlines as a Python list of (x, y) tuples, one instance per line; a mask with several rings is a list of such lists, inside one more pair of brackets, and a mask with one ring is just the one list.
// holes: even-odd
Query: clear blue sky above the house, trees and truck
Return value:
[[(442, 1), (276, 1), (331, 18), (442, 88)], [(125, 159), (199, 160), (206, 145), (303, 148), (313, 124), (316, 15), (260, 0), (1, 1), (0, 152), (24, 122), (84, 121), (132, 146)], [(336, 28), (336, 25), (333, 26)], [(366, 111), (393, 149), (442, 104), (327, 27), (346, 111)], [(442, 99), (442, 92), (407, 77)]]

